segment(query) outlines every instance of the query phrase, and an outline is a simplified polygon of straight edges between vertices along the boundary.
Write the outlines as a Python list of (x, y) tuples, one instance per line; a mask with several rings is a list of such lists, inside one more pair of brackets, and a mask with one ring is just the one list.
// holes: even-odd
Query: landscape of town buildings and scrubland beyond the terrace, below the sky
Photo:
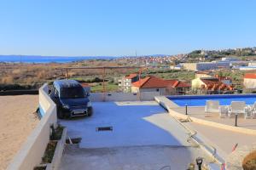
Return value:
[[(91, 92), (156, 91), (162, 95), (256, 92), (256, 48), (202, 49), (189, 54), (97, 58), (67, 63), (52, 60), (49, 63), (1, 62), (0, 65), (1, 91), (37, 89), (44, 82), (68, 76), (89, 86)], [(115, 69), (103, 75), (101, 68), (90, 70), (92, 66)], [(68, 69), (67, 72), (68, 67), (88, 69)]]

